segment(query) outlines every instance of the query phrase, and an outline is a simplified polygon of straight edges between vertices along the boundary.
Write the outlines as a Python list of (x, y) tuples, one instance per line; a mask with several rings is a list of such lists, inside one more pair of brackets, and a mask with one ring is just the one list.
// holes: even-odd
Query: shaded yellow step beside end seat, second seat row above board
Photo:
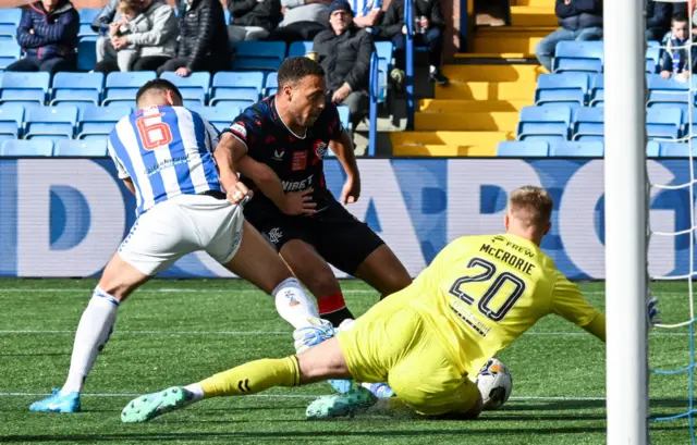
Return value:
[(517, 112), (416, 113), (414, 129), (452, 129), (465, 132), (513, 131), (518, 123)]

